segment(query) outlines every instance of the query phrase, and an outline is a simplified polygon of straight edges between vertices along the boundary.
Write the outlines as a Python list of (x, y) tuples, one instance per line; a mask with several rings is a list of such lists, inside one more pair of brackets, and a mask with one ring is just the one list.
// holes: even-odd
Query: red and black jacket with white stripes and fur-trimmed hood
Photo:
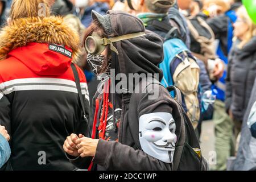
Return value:
[[(7, 168), (75, 169), (62, 146), (68, 135), (85, 134), (71, 68), (79, 36), (51, 16), (13, 20), (0, 40), (0, 125), (11, 136)], [(86, 79), (77, 70), (88, 111)]]

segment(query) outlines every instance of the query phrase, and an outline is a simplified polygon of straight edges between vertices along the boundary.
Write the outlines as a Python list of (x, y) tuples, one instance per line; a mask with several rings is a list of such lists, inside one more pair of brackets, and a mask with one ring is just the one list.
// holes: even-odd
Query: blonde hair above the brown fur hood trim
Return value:
[(50, 10), (46, 0), (14, 0), (11, 5), (11, 20), (18, 18), (48, 17)]

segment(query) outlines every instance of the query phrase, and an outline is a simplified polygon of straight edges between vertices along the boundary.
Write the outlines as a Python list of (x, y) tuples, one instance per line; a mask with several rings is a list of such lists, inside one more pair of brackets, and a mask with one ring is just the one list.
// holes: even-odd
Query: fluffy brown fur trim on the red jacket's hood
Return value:
[(9, 26), (2, 28), (0, 40), (0, 60), (6, 59), (11, 50), (31, 42), (67, 46), (73, 51), (72, 61), (75, 63), (80, 53), (79, 35), (58, 16), (13, 20)]

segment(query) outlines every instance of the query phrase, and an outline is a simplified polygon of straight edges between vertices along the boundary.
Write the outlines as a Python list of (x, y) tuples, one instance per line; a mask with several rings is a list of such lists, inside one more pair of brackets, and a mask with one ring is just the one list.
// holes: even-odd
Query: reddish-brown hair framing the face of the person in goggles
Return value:
[[(108, 38), (109, 35), (106, 34), (104, 28), (101, 26), (100, 22), (98, 20), (94, 20), (92, 24), (86, 28), (85, 34), (84, 34), (84, 39), (82, 40), (82, 47), (85, 48), (85, 40), (88, 38), (88, 36), (91, 36), (93, 32), (97, 32), (99, 36), (102, 38)], [(86, 56), (88, 52), (85, 50)], [(106, 46), (106, 53), (107, 56), (105, 57), (104, 64), (101, 67), (100, 73), (104, 73), (106, 69), (108, 68), (109, 65), (109, 60), (111, 59), (111, 50), (110, 50), (110, 45)]]

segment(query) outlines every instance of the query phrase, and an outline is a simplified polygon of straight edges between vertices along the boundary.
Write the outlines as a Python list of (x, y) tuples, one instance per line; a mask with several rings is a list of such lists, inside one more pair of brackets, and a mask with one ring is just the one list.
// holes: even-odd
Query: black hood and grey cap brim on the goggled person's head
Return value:
[[(122, 11), (108, 11), (104, 16), (92, 11), (93, 20), (100, 22), (106, 34), (111, 37), (145, 32), (145, 27), (141, 19)], [(152, 73), (159, 74), (159, 79), (163, 77), (158, 64), (163, 60), (163, 42), (158, 35), (147, 31), (145, 35), (138, 38), (121, 40), (113, 43), (117, 48), (119, 70), (121, 73)], [(117, 60), (112, 60), (117, 61)]]

